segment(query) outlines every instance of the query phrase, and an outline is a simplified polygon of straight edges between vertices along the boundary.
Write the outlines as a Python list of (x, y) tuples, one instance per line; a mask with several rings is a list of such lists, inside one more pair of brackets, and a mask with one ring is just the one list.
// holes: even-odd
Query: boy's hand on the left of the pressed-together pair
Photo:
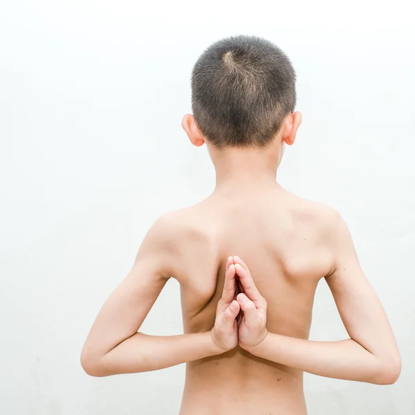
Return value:
[(236, 317), (239, 313), (239, 302), (234, 299), (236, 293), (236, 273), (232, 257), (228, 258), (225, 269), (225, 284), (222, 298), (216, 308), (216, 320), (210, 331), (214, 344), (221, 353), (233, 349), (238, 344), (238, 323)]

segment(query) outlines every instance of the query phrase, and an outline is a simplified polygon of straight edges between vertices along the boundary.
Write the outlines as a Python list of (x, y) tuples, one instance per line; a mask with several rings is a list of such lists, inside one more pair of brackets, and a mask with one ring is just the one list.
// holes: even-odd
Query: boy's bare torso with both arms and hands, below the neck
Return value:
[[(145, 335), (140, 326), (170, 277), (181, 284), (186, 334)], [(322, 277), (349, 339), (306, 340)], [(401, 367), (385, 311), (337, 212), (275, 182), (241, 179), (154, 223), (98, 313), (81, 362), (91, 376), (188, 362), (181, 415), (305, 415), (302, 371), (390, 385)]]

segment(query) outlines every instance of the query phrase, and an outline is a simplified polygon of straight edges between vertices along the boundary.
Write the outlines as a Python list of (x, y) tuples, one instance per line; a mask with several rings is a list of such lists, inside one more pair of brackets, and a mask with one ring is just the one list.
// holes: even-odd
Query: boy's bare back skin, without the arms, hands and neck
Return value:
[[(225, 261), (239, 255), (268, 302), (268, 330), (308, 338), (315, 288), (332, 264), (321, 205), (275, 185), (246, 197), (213, 195), (177, 215), (183, 232), (174, 277), (182, 288), (185, 333), (212, 328)], [(306, 414), (302, 371), (239, 347), (188, 363), (181, 414), (233, 413)]]

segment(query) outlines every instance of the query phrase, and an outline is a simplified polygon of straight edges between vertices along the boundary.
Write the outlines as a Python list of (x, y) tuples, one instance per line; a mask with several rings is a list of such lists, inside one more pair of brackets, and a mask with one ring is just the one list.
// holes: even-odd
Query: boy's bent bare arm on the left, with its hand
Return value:
[[(138, 333), (172, 275), (174, 238), (168, 234), (170, 225), (162, 218), (151, 227), (130, 272), (98, 313), (82, 349), (81, 364), (87, 374), (109, 376), (163, 369), (223, 353), (230, 346), (227, 340), (222, 341), (223, 336), (215, 337), (209, 331), (171, 336)], [(232, 286), (234, 276), (232, 279), (232, 273), (228, 273), (228, 277)], [(228, 334), (224, 336), (226, 339), (233, 330), (239, 306), (234, 315), (234, 311), (226, 311), (226, 302), (220, 303), (223, 310), (218, 309), (220, 318), (216, 326)], [(237, 344), (237, 332), (235, 335)]]

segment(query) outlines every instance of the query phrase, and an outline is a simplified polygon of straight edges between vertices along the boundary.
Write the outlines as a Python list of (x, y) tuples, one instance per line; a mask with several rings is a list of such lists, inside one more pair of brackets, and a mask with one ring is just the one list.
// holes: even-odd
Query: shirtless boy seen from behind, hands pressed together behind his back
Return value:
[[(395, 382), (398, 348), (347, 225), (275, 181), (302, 119), (286, 55), (257, 37), (216, 42), (194, 66), (192, 108), (183, 128), (193, 145), (206, 143), (215, 190), (151, 227), (86, 339), (86, 373), (186, 362), (181, 415), (304, 415), (304, 371)], [(170, 277), (181, 284), (185, 334), (138, 333)], [(307, 340), (322, 277), (348, 340)]]

